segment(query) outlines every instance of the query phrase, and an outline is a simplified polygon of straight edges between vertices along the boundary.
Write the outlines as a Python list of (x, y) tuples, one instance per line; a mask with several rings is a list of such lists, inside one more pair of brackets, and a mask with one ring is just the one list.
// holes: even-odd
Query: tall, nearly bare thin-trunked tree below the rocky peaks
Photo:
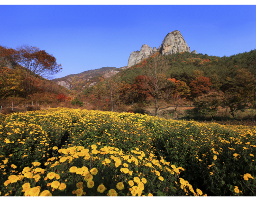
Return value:
[(168, 90), (170, 90), (172, 82), (166, 78), (168, 68), (168, 61), (165, 57), (156, 55), (144, 70), (146, 87), (155, 99), (155, 116), (157, 116), (159, 108), (158, 102), (170, 95)]

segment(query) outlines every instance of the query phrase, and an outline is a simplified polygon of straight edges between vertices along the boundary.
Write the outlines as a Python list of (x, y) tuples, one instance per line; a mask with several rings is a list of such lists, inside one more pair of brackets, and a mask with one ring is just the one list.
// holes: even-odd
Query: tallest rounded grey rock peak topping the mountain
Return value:
[(159, 53), (162, 55), (172, 55), (176, 54), (177, 52), (191, 53), (188, 44), (181, 35), (181, 32), (178, 30), (170, 32), (166, 35), (159, 50)]

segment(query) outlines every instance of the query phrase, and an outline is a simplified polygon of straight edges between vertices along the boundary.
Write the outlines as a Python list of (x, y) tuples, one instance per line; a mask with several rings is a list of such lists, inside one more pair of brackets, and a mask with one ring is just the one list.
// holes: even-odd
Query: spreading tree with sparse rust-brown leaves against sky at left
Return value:
[(39, 76), (49, 76), (59, 73), (62, 70), (61, 64), (56, 63), (53, 55), (45, 50), (27, 45), (19, 46), (14, 53), (15, 61), (24, 67), (23, 88), (27, 93), (34, 89), (34, 83)]

